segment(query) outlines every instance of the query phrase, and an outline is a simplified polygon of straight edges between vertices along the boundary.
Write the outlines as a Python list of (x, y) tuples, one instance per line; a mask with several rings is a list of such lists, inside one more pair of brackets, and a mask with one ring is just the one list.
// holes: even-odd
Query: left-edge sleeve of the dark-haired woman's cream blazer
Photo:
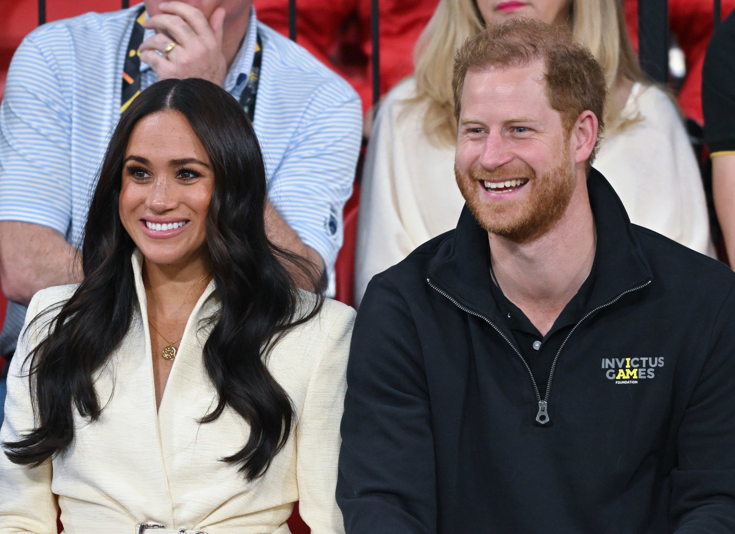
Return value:
[[(37, 293), (28, 306), (21, 339), (10, 362), (7, 375), (5, 419), (0, 429), (0, 441), (18, 441), (35, 427), (26, 357), (35, 345), (35, 333), (27, 333), (30, 320), (43, 309), (42, 295)], [(34, 328), (38, 332), (39, 328)], [(4, 451), (3, 451), (4, 452)], [(51, 461), (29, 468), (12, 463), (0, 454), (0, 534), (57, 532), (58, 507), (51, 491)]]

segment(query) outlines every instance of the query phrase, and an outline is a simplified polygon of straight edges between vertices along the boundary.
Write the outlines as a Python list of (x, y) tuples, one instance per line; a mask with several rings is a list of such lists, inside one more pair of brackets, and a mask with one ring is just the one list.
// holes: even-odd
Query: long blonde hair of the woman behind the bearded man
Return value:
[[(628, 39), (623, 9), (617, 0), (573, 0), (568, 26), (575, 43), (589, 48), (605, 74), (612, 93), (621, 79), (650, 84), (638, 65)], [(440, 0), (437, 10), (415, 48), (416, 96), (412, 105), (426, 105), (423, 130), (440, 145), (456, 142), (452, 66), (456, 51), (477, 35), (484, 22), (473, 0)], [(609, 98), (604, 122), (608, 131), (620, 131), (636, 118), (621, 118), (622, 109)]]

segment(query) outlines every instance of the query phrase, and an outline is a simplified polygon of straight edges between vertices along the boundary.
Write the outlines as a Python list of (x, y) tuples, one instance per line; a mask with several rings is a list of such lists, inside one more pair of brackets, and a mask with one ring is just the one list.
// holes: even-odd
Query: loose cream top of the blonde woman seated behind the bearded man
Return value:
[[(415, 95), (413, 76), (393, 87), (370, 134), (355, 249), (358, 305), (370, 278), (453, 230), (465, 205), (454, 179), (454, 146), (426, 137), (426, 105), (406, 104)], [(636, 84), (621, 113), (642, 120), (606, 135), (593, 166), (632, 223), (714, 257), (699, 167), (674, 104), (659, 88)]]

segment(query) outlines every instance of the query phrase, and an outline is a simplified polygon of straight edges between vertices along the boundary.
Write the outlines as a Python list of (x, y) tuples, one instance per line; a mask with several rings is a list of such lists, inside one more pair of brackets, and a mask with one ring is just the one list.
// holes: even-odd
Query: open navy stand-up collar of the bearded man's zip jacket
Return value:
[[(628, 289), (650, 281), (651, 272), (623, 203), (598, 170), (589, 173), (587, 190), (597, 228), (595, 279), (586, 306), (589, 313)], [(487, 232), (465, 204), (453, 239), (437, 250), (427, 277), (432, 285), (475, 314), (499, 319), (490, 291), (489, 251)]]

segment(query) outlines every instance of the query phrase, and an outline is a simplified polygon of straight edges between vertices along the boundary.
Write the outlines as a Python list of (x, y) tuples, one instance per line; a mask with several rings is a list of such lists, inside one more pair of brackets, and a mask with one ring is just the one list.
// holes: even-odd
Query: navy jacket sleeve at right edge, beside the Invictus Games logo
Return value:
[(678, 534), (735, 532), (735, 286), (728, 293), (700, 371), (677, 369), (677, 375), (696, 377), (677, 388), (681, 397), (690, 393), (678, 428), (678, 465), (671, 472)]

